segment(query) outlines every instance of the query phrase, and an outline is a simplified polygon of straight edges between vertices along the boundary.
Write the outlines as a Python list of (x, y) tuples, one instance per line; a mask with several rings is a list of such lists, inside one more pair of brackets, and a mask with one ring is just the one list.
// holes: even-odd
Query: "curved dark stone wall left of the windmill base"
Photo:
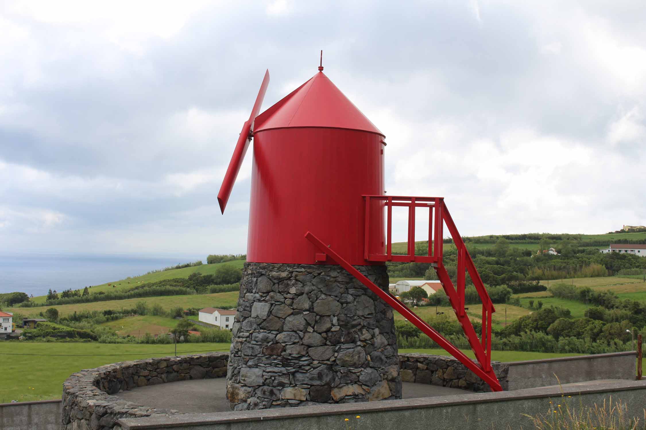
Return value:
[(119, 418), (175, 410), (155, 409), (112, 396), (122, 390), (188, 379), (220, 378), (227, 373), (228, 354), (208, 353), (182, 357), (126, 361), (86, 369), (63, 384), (63, 430), (121, 430)]

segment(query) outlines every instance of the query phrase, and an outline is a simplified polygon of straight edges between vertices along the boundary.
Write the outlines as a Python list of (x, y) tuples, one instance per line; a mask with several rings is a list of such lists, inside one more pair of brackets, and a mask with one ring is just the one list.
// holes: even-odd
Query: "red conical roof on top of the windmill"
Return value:
[(297, 127), (345, 128), (385, 137), (323, 72), (258, 115), (253, 131)]

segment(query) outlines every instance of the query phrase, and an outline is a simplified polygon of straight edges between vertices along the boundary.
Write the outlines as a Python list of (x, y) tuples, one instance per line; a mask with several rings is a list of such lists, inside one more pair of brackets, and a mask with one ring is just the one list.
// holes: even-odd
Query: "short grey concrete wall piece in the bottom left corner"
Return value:
[(61, 400), (0, 403), (2, 430), (60, 430)]

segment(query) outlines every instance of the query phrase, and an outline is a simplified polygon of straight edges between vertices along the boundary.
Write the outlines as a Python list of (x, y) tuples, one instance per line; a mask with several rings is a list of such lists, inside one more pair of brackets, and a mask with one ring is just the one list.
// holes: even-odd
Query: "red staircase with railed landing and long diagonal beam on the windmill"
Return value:
[[(464, 334), (469, 341), (471, 349), (474, 351), (477, 362), (466, 357), (462, 351), (453, 346), (441, 334), (437, 333), (433, 327), (429, 326), (422, 318), (419, 318), (413, 311), (408, 309), (402, 302), (393, 297), (390, 293), (383, 291), (381, 288), (373, 284), (368, 278), (362, 275), (357, 269), (349, 264), (343, 257), (336, 253), (331, 246), (322, 242), (315, 235), (307, 231), (305, 237), (312, 242), (322, 253), (325, 253), (332, 260), (337, 262), (342, 268), (346, 269), (351, 275), (360, 280), (367, 288), (370, 288), (373, 293), (382, 298), (384, 302), (388, 303), (393, 309), (399, 312), (404, 318), (412, 322), (422, 333), (428, 335), (435, 343), (445, 349), (453, 357), (457, 358), (468, 369), (473, 371), (475, 375), (479, 376), (483, 381), (488, 384), (493, 391), (502, 391), (500, 382), (491, 366), (491, 315), (495, 312), (494, 304), (491, 301), (488, 293), (486, 292), (485, 285), (480, 279), (480, 275), (475, 269), (474, 261), (471, 259), (464, 240), (459, 235), (450, 213), (446, 209), (444, 199), (442, 197), (402, 197), (402, 196), (385, 196), (385, 195), (364, 195), (366, 202), (365, 210), (365, 237), (364, 244), (364, 258), (368, 261), (405, 261), (405, 262), (427, 262), (431, 263), (437, 277), (439, 278), (446, 296), (451, 302), (455, 316), (461, 324)], [(386, 253), (374, 254), (369, 253), (368, 250), (372, 249), (371, 244), (368, 242), (370, 238), (369, 229), (371, 225), (371, 210), (375, 208), (375, 200), (383, 202), (383, 207), (387, 211), (386, 219)], [(381, 204), (379, 204), (381, 207)], [(392, 253), (392, 208), (393, 206), (408, 207), (408, 251), (405, 255), (393, 255)], [(428, 208), (428, 253), (427, 255), (415, 255), (415, 208)], [(457, 248), (457, 288), (448, 275), (442, 260), (443, 251), (443, 227), (446, 224), (453, 243)], [(468, 271), (474, 287), (478, 292), (482, 302), (482, 331), (480, 337), (475, 333), (474, 326), (471, 324), (466, 311), (464, 309), (464, 289), (466, 284), (465, 272)]]

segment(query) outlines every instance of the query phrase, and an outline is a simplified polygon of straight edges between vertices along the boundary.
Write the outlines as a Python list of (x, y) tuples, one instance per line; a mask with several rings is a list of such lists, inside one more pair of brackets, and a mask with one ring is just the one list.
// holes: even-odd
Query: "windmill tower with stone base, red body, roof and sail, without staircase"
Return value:
[(253, 130), (229, 404), (245, 410), (401, 398), (392, 309), (305, 238), (315, 233), (388, 291), (384, 263), (365, 258), (384, 254), (383, 202), (366, 208), (363, 197), (385, 192), (384, 135), (322, 72), (256, 117), (268, 79), (218, 195), (224, 211)]

